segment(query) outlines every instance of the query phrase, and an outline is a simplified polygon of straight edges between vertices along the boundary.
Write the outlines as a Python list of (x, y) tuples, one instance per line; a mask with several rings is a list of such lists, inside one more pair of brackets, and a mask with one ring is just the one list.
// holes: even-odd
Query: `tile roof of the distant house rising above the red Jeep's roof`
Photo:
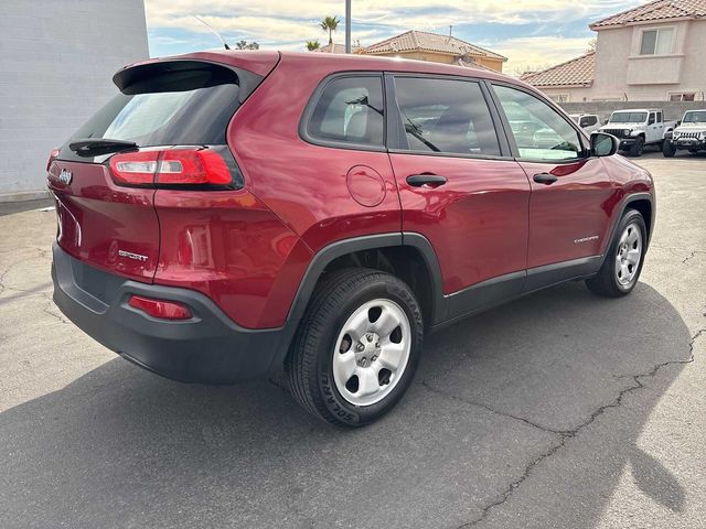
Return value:
[(498, 58), (507, 61), (495, 52), (462, 41), (456, 36), (439, 35), (437, 33), (428, 33), (426, 31), (410, 30), (397, 36), (393, 36), (381, 41), (372, 46), (364, 48), (363, 53), (399, 53), (410, 52), (415, 50), (424, 50), (427, 52), (449, 53), (452, 55), (471, 55), (478, 57)]

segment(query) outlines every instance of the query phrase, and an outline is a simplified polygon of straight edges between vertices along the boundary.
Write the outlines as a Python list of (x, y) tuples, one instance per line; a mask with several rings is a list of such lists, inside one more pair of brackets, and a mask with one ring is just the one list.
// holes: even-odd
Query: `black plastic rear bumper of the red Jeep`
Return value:
[[(229, 384), (278, 366), (282, 330), (236, 325), (205, 295), (137, 281), (89, 267), (53, 245), (54, 302), (86, 334), (130, 361), (184, 382)], [(130, 294), (186, 304), (191, 320), (167, 321), (128, 305)]]

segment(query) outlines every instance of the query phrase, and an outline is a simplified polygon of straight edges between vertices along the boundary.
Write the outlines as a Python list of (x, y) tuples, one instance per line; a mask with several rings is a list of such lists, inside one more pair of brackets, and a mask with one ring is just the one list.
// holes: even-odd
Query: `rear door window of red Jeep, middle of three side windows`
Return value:
[(478, 83), (396, 77), (395, 95), (410, 151), (500, 155), (498, 134)]

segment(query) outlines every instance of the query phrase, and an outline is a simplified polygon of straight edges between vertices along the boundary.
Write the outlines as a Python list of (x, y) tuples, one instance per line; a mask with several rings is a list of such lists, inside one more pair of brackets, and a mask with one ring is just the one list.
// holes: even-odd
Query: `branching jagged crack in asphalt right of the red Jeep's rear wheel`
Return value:
[(510, 485), (502, 492), (500, 493), (500, 495), (493, 499), (491, 503), (486, 504), (485, 506), (483, 506), (481, 508), (481, 516), (478, 517), (474, 520), (471, 520), (469, 522), (462, 523), (458, 527), (458, 529), (467, 529), (470, 527), (473, 527), (478, 523), (480, 523), (481, 521), (485, 520), (489, 516), (490, 512), (493, 508), (501, 506), (503, 504), (505, 504), (513, 495), (513, 493), (515, 492), (515, 489), (517, 489), (532, 474), (532, 471), (534, 469), (535, 466), (537, 466), (539, 463), (542, 463), (544, 460), (552, 457), (556, 452), (558, 452), (561, 447), (564, 447), (566, 445), (566, 443), (571, 439), (575, 438), (581, 430), (584, 430), (586, 427), (590, 425), (591, 423), (593, 423), (596, 421), (596, 419), (598, 419), (600, 415), (602, 415), (603, 413), (606, 413), (608, 410), (612, 409), (612, 408), (619, 408), (622, 402), (623, 402), (623, 398), (629, 395), (632, 393), (634, 391), (638, 391), (640, 389), (643, 389), (645, 386), (644, 384), (640, 380), (642, 378), (652, 378), (654, 377), (660, 369), (662, 369), (663, 367), (670, 366), (670, 365), (678, 365), (678, 364), (691, 364), (694, 361), (694, 347), (696, 344), (696, 341), (704, 334), (706, 333), (706, 327), (698, 330), (692, 337), (691, 341), (688, 343), (688, 347), (689, 347), (689, 357), (687, 359), (684, 360), (667, 360), (664, 361), (662, 364), (657, 364), (655, 365), (652, 369), (650, 369), (646, 373), (641, 373), (638, 375), (628, 375), (627, 378), (632, 378), (633, 380), (633, 385), (628, 386), (627, 388), (623, 388), (622, 390), (619, 391), (618, 397), (616, 397), (612, 401), (608, 402), (607, 404), (602, 404), (600, 406), (596, 411), (593, 411), (586, 421), (584, 421), (582, 423), (580, 423), (578, 427), (576, 427), (573, 430), (566, 430), (566, 431), (560, 431), (560, 430), (552, 430), (549, 428), (545, 428), (538, 423), (535, 423), (533, 421), (530, 421), (527, 419), (524, 419), (522, 417), (517, 417), (517, 415), (513, 415), (506, 412), (502, 412), (502, 411), (498, 411), (494, 410), (493, 408), (489, 407), (488, 404), (484, 403), (479, 403), (479, 402), (473, 402), (470, 400), (466, 400), (462, 399), (460, 397), (453, 396), (453, 395), (449, 395), (446, 393), (437, 388), (434, 388), (431, 386), (429, 386), (428, 382), (422, 381), (421, 385), (427, 388), (428, 390), (438, 393), (442, 397), (446, 397), (448, 399), (451, 400), (457, 400), (463, 403), (467, 403), (469, 406), (474, 406), (474, 407), (480, 407), (483, 408), (488, 411), (491, 411), (493, 413), (496, 413), (501, 417), (506, 417), (510, 419), (515, 419), (518, 421), (522, 421), (526, 424), (530, 424), (534, 428), (537, 428), (539, 430), (543, 430), (545, 432), (555, 434), (555, 435), (559, 435), (560, 439), (558, 440), (558, 442), (556, 444), (554, 444), (553, 446), (550, 446), (548, 450), (546, 450), (545, 452), (541, 453), (538, 456), (536, 456), (533, 461), (531, 461), (524, 468), (522, 475), (514, 479), (512, 483), (510, 483)]

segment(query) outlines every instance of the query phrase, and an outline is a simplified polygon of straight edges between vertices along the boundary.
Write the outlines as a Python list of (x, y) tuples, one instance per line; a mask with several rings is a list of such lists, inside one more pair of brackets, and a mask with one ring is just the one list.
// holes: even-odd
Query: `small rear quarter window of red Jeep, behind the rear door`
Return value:
[(383, 147), (383, 109), (382, 77), (338, 77), (317, 100), (307, 134), (324, 142)]

